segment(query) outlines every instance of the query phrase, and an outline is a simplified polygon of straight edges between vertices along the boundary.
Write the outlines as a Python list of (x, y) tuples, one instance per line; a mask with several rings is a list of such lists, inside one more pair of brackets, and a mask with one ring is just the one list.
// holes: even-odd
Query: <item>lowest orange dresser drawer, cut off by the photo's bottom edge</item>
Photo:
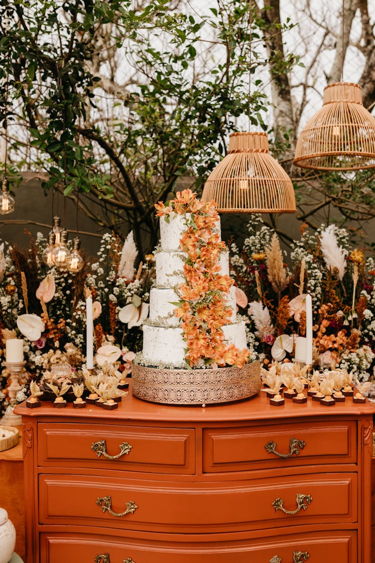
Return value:
[[(309, 563), (357, 563), (355, 531), (322, 531), (261, 540), (219, 541), (217, 537), (208, 537), (205, 541), (189, 541), (187, 536), (182, 542), (165, 538), (168, 534), (164, 534), (164, 539), (147, 540), (124, 535), (43, 533), (40, 563), (269, 563), (273, 557), (292, 563), (293, 553), (299, 551), (309, 554)], [(105, 558), (96, 559), (105, 554)]]

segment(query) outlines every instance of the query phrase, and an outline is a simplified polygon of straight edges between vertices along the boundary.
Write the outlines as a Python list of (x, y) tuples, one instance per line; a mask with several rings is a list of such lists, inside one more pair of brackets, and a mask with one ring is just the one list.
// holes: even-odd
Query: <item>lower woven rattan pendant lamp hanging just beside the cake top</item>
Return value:
[(231, 133), (228, 154), (206, 180), (202, 200), (221, 213), (295, 213), (293, 184), (269, 154), (266, 133)]

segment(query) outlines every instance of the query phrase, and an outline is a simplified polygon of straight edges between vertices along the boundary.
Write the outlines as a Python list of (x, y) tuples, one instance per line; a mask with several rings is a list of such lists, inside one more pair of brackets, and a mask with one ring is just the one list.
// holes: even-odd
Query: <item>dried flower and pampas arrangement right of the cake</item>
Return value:
[[(313, 300), (315, 367), (374, 378), (375, 260), (350, 244), (349, 232), (336, 226), (291, 244), (290, 264), (277, 235), (252, 216), (242, 251), (232, 244), (231, 268), (249, 298), (248, 346), (268, 364), (291, 360), (297, 336), (305, 336), (305, 295)], [(242, 310), (245, 315), (246, 311)]]

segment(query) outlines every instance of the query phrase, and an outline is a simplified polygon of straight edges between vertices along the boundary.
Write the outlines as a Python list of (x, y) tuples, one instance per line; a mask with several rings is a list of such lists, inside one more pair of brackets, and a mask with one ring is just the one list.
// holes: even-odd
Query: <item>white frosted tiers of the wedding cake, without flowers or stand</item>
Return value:
[[(176, 303), (180, 301), (179, 284), (185, 282), (183, 266), (187, 253), (180, 248), (180, 238), (187, 229), (190, 213), (175, 215), (166, 222), (160, 220), (161, 249), (155, 254), (156, 284), (150, 292), (150, 318), (143, 325), (143, 365), (155, 367), (186, 368), (186, 341), (175, 316)], [(221, 234), (220, 218), (216, 233)], [(220, 274), (229, 275), (229, 253), (219, 258)], [(232, 286), (226, 298), (232, 308), (230, 324), (223, 327), (225, 341), (242, 350), (246, 348), (245, 323), (236, 321), (236, 294)]]

